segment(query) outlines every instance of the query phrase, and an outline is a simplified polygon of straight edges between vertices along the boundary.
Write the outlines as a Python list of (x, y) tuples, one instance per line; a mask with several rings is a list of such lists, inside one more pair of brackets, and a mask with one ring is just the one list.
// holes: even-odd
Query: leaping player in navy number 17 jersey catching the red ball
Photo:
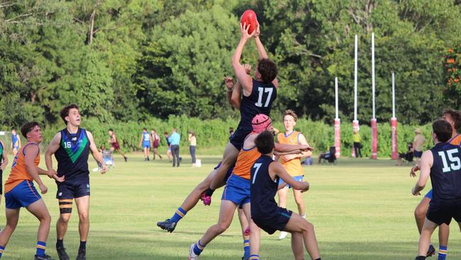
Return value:
[[(211, 196), (226, 176), (227, 170), (235, 163), (238, 157), (240, 148), (242, 148), (243, 141), (248, 134), (252, 131), (251, 121), (256, 114), (265, 114), (270, 116), (272, 102), (277, 97), (277, 65), (272, 60), (268, 59), (264, 45), (260, 40), (260, 27), (257, 26), (251, 34), (248, 34), (250, 26), (242, 26), (240, 24), (240, 32), (242, 36), (240, 42), (235, 48), (232, 56), (232, 65), (235, 70), (235, 76), (238, 82), (243, 87), (243, 99), (240, 104), (240, 123), (237, 130), (233, 134), (229, 143), (224, 151), (221, 168), (218, 169), (216, 177), (213, 178), (211, 187), (206, 191), (206, 196)], [(243, 48), (250, 38), (255, 38), (257, 52), (260, 56), (258, 60), (255, 79), (245, 71), (245, 67), (240, 64), (240, 57)]]

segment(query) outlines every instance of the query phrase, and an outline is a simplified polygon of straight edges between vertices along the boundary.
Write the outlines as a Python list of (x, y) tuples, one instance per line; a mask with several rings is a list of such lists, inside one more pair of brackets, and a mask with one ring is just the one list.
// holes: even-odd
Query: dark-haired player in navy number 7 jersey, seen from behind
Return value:
[(279, 187), (277, 184), (279, 179), (302, 193), (309, 190), (309, 183), (294, 180), (284, 166), (272, 160), (274, 136), (271, 132), (264, 131), (259, 134), (255, 139), (255, 144), (261, 156), (251, 168), (250, 205), (252, 220), (269, 234), (274, 234), (276, 230), (291, 232), (291, 248), (294, 259), (304, 259), (304, 240), (304, 246), (311, 259), (319, 260), (320, 254), (313, 224), (291, 210), (278, 207), (274, 200), (274, 195)]

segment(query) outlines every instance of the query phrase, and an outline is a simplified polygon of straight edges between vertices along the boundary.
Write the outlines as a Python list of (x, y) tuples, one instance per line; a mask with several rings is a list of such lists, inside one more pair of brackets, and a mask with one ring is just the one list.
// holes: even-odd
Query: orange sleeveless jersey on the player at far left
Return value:
[[(28, 145), (35, 145), (35, 143), (27, 143), (25, 146), (21, 147), (19, 149), (18, 153), (16, 153), (16, 156), (14, 157), (13, 165), (11, 166), (11, 172), (10, 175), (8, 176), (8, 180), (5, 182), (5, 193), (8, 193), (10, 190), (13, 190), (16, 185), (21, 183), (23, 180), (30, 180), (33, 181), (33, 178), (27, 173), (27, 168), (26, 168), (26, 154), (24, 153), (24, 149)], [(36, 167), (38, 167), (38, 164), (40, 163), (40, 153), (37, 154), (37, 157), (35, 157), (34, 164)]]

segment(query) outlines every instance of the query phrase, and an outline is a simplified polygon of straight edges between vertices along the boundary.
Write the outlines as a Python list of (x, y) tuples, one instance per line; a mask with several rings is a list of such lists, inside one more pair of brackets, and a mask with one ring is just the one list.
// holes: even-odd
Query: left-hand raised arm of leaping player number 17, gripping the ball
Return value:
[(240, 23), (240, 32), (242, 33), (242, 37), (240, 38), (240, 42), (238, 42), (237, 48), (232, 55), (232, 67), (235, 71), (235, 76), (238, 79), (238, 82), (243, 87), (243, 94), (245, 96), (249, 96), (252, 90), (252, 78), (248, 75), (245, 71), (245, 67), (240, 64), (240, 57), (242, 56), (243, 48), (245, 47), (245, 43), (247, 43), (248, 39), (252, 38), (255, 35), (256, 30), (254, 30), (251, 34), (248, 34), (249, 25), (242, 25)]

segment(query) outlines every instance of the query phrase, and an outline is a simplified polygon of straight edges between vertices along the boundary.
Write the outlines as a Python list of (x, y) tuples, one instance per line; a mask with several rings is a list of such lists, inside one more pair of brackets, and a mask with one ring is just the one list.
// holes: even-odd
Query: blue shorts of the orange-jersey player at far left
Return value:
[(5, 207), (7, 209), (16, 210), (20, 207), (27, 207), (41, 198), (40, 194), (35, 190), (33, 182), (30, 180), (23, 180), (23, 182), (16, 185), (15, 188), (5, 193)]

